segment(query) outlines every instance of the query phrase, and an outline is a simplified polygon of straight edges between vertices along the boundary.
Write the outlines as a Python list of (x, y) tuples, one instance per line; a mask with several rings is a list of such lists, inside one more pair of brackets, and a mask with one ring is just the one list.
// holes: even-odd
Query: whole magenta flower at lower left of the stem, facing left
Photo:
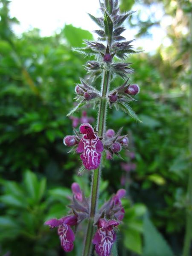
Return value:
[(73, 250), (73, 242), (75, 235), (70, 226), (77, 224), (76, 215), (68, 215), (60, 219), (50, 219), (45, 222), (45, 225), (49, 225), (50, 228), (58, 227), (58, 235), (61, 241), (61, 246), (65, 252)]

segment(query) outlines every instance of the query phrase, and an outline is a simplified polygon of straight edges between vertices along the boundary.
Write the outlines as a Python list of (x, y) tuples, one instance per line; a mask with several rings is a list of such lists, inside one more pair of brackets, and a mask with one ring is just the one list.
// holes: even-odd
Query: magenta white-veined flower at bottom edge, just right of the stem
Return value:
[(99, 219), (98, 230), (92, 240), (93, 244), (95, 244), (96, 253), (99, 256), (110, 256), (112, 245), (116, 240), (114, 227), (118, 225), (119, 221)]

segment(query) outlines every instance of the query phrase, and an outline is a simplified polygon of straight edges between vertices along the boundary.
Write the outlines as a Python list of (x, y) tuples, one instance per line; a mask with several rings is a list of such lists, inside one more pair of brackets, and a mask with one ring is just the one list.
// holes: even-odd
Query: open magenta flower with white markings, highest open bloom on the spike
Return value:
[(79, 141), (76, 152), (82, 153), (80, 157), (87, 170), (97, 169), (101, 161), (101, 152), (104, 149), (103, 143), (89, 123), (80, 125), (79, 131), (84, 135)]

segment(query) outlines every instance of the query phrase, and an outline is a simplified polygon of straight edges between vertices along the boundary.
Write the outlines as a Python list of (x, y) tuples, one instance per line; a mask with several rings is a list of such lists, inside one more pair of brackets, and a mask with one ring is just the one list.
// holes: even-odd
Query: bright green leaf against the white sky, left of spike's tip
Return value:
[(76, 28), (72, 25), (65, 25), (63, 32), (72, 47), (81, 47), (84, 39), (93, 40), (93, 35), (89, 31)]

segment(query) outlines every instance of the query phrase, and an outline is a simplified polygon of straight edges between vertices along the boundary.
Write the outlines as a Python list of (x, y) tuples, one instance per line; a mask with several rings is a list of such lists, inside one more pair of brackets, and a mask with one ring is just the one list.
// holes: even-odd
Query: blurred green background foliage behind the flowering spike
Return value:
[[(174, 15), (180, 6), (171, 12), (168, 2), (164, 3), (165, 10)], [(62, 139), (73, 133), (66, 114), (74, 104), (75, 83), (85, 76), (82, 65), (87, 61), (72, 47), (81, 47), (82, 40), (91, 40), (92, 35), (67, 25), (51, 37), (41, 37), (38, 29), (17, 37), (11, 29), (17, 20), (9, 17), (9, 1), (0, 3), (0, 253), (64, 255), (56, 230), (50, 232), (43, 223), (67, 213), (67, 197), (74, 180), (89, 195), (89, 174), (75, 175), (79, 156), (67, 154)], [(132, 4), (130, 1), (126, 7), (126, 1), (122, 1), (122, 9)], [(137, 164), (130, 174), (128, 199), (123, 201), (126, 214), (117, 239), (119, 255), (134, 252), (155, 256), (158, 244), (161, 255), (172, 255), (157, 228), (175, 255), (180, 254), (183, 244), (189, 46), (175, 47), (178, 38), (187, 42), (187, 37), (174, 37), (173, 32), (174, 28), (170, 30), (170, 47), (160, 47), (154, 55), (131, 55), (128, 60), (135, 70), (130, 81), (141, 87), (132, 108), (143, 123), (120, 111), (108, 111), (108, 128), (117, 131), (124, 127)], [(113, 81), (113, 85), (122, 83), (121, 79)], [(85, 110), (96, 118), (96, 110)], [(126, 154), (123, 158), (128, 161)], [(120, 162), (115, 158), (105, 163), (100, 205), (121, 187), (124, 171)], [(76, 249), (68, 255), (81, 255), (84, 228), (78, 232)], [(151, 237), (156, 241), (152, 246)]]

